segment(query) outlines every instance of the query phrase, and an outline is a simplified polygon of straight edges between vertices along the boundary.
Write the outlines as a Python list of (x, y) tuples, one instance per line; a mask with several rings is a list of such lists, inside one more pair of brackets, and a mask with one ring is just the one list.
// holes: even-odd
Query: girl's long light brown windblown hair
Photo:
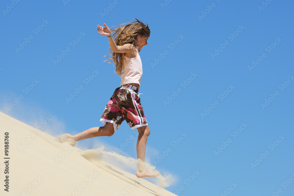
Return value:
[[(117, 26), (116, 29), (111, 29), (111, 31), (114, 31), (113, 38), (117, 46), (123, 46), (126, 43), (131, 43), (136, 46), (138, 35), (143, 37), (150, 36), (150, 29), (148, 28), (148, 24), (144, 24), (138, 19), (135, 20), (136, 21), (134, 22), (121, 24)], [(125, 54), (112, 52), (111, 48), (109, 49), (109, 54), (111, 55), (110, 58), (107, 58), (106, 56), (107, 60), (111, 59), (111, 61), (108, 63), (113, 62), (113, 64), (115, 64), (115, 73), (121, 76)]]

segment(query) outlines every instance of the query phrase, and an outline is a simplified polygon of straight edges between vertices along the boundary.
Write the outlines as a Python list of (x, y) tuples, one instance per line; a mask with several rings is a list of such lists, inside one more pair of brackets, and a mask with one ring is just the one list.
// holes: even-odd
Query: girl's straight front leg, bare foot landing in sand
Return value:
[(137, 141), (137, 157), (138, 157), (138, 168), (136, 176), (141, 177), (156, 177), (159, 173), (148, 172), (145, 168), (145, 151), (148, 135), (150, 135), (150, 129), (147, 126), (137, 128), (139, 132)]

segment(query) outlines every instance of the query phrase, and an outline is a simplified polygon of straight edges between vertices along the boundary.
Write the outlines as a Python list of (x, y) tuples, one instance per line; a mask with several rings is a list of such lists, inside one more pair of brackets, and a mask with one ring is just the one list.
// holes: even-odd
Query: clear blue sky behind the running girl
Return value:
[[(103, 62), (109, 43), (97, 24), (137, 18), (151, 29), (140, 52), (146, 157), (153, 165), (164, 157), (156, 168), (176, 176), (166, 189), (293, 195), (293, 1), (13, 2), (0, 4), (1, 112), (32, 126), (52, 118), (44, 130), (54, 136), (102, 126), (121, 79)], [(131, 135), (124, 122), (113, 136), (79, 145), (120, 148)], [(123, 151), (136, 158), (135, 147), (136, 139)]]

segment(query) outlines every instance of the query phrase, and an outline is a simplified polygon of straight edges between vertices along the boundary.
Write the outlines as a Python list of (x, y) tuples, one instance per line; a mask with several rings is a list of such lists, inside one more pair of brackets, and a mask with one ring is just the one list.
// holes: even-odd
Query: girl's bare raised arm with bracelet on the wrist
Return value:
[[(105, 23), (104, 23), (104, 26), (105, 27), (97, 25), (98, 33), (101, 35), (110, 36), (111, 30), (108, 28), (108, 26), (106, 26)], [(127, 43), (123, 46), (117, 46), (112, 36), (108, 37), (108, 39), (109, 39), (109, 44), (110, 44), (111, 50), (113, 52), (115, 52), (115, 53), (132, 53), (132, 54), (136, 53), (136, 50), (135, 50), (135, 47), (133, 44)]]

